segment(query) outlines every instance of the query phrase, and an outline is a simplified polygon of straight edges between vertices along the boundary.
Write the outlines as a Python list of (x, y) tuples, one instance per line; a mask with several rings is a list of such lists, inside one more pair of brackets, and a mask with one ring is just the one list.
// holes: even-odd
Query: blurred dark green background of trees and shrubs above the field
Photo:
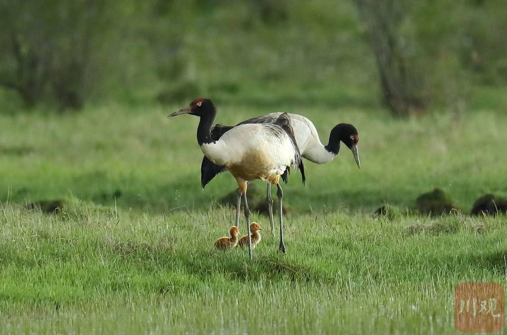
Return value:
[(502, 109), (507, 6), (485, 0), (0, 0), (0, 113), (111, 101)]

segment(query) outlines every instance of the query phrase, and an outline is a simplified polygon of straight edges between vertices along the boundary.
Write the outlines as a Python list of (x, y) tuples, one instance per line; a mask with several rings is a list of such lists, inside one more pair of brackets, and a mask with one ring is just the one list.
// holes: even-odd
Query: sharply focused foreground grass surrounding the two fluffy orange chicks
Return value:
[(264, 233), (249, 262), (212, 248), (230, 209), (2, 212), (7, 332), (451, 333), (455, 284), (505, 280), (504, 217), (288, 215), (287, 255)]

